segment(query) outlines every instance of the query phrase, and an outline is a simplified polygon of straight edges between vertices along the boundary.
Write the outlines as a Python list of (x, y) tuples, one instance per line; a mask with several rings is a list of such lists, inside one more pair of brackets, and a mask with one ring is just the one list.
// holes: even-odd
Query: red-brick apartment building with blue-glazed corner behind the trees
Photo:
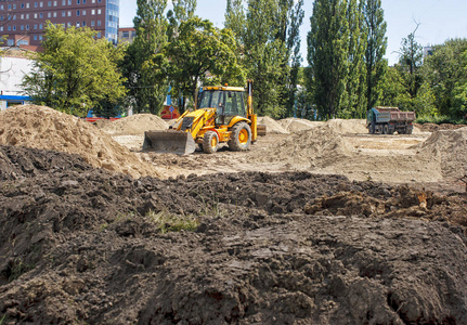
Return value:
[(118, 41), (119, 0), (0, 0), (0, 36), (7, 46), (40, 46), (46, 24), (90, 27)]

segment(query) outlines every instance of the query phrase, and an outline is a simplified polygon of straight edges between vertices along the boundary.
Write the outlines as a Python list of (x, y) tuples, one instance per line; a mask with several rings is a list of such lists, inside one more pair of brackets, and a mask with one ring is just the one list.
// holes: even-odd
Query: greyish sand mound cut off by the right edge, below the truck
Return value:
[(418, 147), (432, 157), (440, 157), (444, 177), (467, 174), (467, 128), (436, 131)]

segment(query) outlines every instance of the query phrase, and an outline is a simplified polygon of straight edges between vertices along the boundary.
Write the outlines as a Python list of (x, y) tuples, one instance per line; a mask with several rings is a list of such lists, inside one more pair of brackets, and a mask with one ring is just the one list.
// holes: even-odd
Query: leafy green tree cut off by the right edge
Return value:
[(440, 114), (462, 117), (463, 89), (467, 80), (467, 39), (451, 39), (433, 47), (433, 54), (426, 57), (425, 78), (436, 98)]

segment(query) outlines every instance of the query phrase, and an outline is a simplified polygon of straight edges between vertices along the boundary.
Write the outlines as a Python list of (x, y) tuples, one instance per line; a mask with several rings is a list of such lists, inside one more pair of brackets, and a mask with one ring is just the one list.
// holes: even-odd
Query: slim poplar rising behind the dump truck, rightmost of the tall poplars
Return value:
[(387, 24), (385, 22), (381, 0), (362, 0), (363, 15), (365, 18), (364, 32), (366, 35), (366, 102), (371, 109), (378, 102), (378, 83), (385, 76), (388, 66), (384, 58), (388, 38), (386, 37)]

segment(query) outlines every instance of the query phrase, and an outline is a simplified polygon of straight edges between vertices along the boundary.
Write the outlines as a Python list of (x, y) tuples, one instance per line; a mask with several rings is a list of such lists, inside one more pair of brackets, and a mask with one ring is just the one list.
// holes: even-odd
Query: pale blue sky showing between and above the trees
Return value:
[[(211, 21), (217, 27), (224, 22), (226, 0), (197, 0), (196, 14)], [(301, 27), (302, 65), (307, 66), (307, 34), (313, 1), (304, 0), (304, 18)], [(389, 64), (398, 61), (401, 41), (419, 23), (416, 40), (421, 46), (443, 43), (450, 38), (467, 38), (467, 0), (382, 0), (385, 18), (388, 23)], [(137, 13), (137, 0), (120, 0), (120, 27), (132, 26)], [(416, 23), (415, 23), (416, 22)]]

